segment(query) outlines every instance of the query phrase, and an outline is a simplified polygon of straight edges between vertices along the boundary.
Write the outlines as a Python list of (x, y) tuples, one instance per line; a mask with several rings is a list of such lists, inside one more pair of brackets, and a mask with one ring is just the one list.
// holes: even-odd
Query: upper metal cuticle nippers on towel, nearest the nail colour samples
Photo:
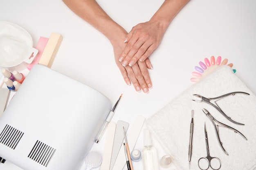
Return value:
[[(196, 97), (201, 98), (201, 100), (193, 100), (193, 101), (195, 101), (195, 102), (206, 102), (206, 103), (212, 105), (213, 107), (215, 107), (223, 116), (225, 116), (225, 117), (226, 117), (228, 120), (230, 120), (231, 122), (236, 123), (236, 124), (240, 124), (240, 125), (245, 125), (245, 124), (238, 123), (238, 122), (232, 120), (229, 116), (227, 116), (227, 115), (222, 111), (222, 109), (220, 109), (220, 107), (219, 107), (218, 104), (216, 103), (218, 100), (220, 100), (220, 99), (222, 99), (222, 98), (225, 98), (225, 97), (230, 96), (230, 95), (233, 95), (233, 96), (234, 96), (235, 94), (246, 94), (246, 95), (250, 95), (249, 93), (245, 93), (245, 92), (231, 92), (231, 93), (224, 94), (224, 95), (222, 95), (222, 96), (218, 96), (218, 97), (215, 97), (215, 98), (206, 98), (206, 97), (201, 96), (201, 95), (199, 95), (199, 94), (193, 94), (193, 96), (196, 96)], [(213, 104), (213, 103), (211, 102), (211, 100), (215, 100), (215, 101), (213, 101), (215, 104)]]

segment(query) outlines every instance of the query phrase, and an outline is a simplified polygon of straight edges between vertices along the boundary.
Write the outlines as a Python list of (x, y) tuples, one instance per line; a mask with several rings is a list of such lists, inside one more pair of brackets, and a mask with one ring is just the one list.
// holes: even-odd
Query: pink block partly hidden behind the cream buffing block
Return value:
[(31, 68), (35, 65), (38, 64), (38, 61), (41, 58), (41, 55), (43, 54), (43, 51), (45, 50), (45, 46), (48, 42), (49, 38), (45, 38), (45, 37), (40, 37), (37, 44), (36, 44), (36, 49), (38, 50), (38, 53), (36, 55), (36, 57), (34, 58), (34, 60), (32, 61), (32, 63), (27, 65), (27, 69), (31, 70)]

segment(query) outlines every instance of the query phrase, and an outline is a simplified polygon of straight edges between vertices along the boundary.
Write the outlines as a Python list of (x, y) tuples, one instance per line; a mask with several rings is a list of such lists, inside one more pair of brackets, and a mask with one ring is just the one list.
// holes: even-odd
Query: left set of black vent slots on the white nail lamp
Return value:
[(0, 143), (15, 149), (23, 134), (24, 133), (22, 131), (19, 131), (7, 124), (0, 134)]

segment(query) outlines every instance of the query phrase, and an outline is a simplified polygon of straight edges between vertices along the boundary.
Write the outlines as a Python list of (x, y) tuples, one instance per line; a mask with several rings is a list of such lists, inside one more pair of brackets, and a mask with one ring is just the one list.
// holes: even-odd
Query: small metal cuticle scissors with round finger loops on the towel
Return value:
[[(201, 170), (208, 170), (209, 167), (211, 167), (213, 170), (219, 170), (220, 167), (221, 167), (221, 161), (218, 157), (211, 157), (210, 156), (210, 153), (209, 153), (209, 143), (208, 143), (208, 136), (207, 136), (207, 131), (206, 131), (206, 126), (205, 126), (205, 122), (204, 122), (204, 135), (205, 135), (205, 144), (206, 144), (206, 151), (207, 151), (207, 156), (206, 157), (201, 157), (199, 160), (198, 160), (198, 166)], [(208, 167), (207, 168), (202, 168), (202, 162), (203, 162), (203, 159), (207, 160), (208, 162)], [(216, 169), (213, 168), (211, 166), (211, 161), (214, 161), (214, 162), (217, 162), (216, 164)], [(201, 163), (200, 163), (201, 162)], [(200, 166), (201, 165), (201, 166)]]

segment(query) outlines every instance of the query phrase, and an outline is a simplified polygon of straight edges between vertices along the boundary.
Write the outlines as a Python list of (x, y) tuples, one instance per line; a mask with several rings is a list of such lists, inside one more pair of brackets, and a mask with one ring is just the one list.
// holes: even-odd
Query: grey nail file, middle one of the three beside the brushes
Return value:
[(124, 122), (122, 120), (117, 121), (109, 170), (112, 170), (112, 168), (114, 167), (119, 150), (121, 146), (123, 146), (122, 144), (124, 142), (124, 131), (127, 131), (128, 126), (129, 124), (127, 122)]

